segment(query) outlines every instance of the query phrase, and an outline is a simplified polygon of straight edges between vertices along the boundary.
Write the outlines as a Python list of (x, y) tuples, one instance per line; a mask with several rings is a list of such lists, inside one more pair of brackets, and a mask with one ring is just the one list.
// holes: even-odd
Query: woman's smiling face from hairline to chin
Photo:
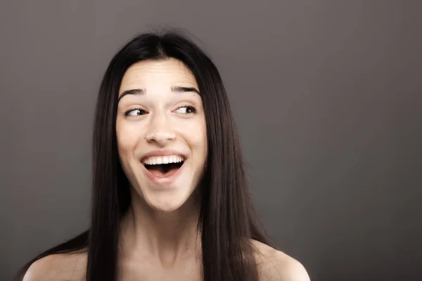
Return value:
[(132, 187), (153, 209), (181, 207), (203, 176), (207, 132), (191, 70), (179, 60), (146, 60), (120, 84), (117, 148)]

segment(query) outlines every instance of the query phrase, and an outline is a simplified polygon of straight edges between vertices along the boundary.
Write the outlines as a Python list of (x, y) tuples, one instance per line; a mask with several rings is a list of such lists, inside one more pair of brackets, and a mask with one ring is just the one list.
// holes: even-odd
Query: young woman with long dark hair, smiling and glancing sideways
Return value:
[(111, 60), (96, 104), (91, 226), (25, 281), (309, 280), (255, 216), (217, 68), (177, 32)]

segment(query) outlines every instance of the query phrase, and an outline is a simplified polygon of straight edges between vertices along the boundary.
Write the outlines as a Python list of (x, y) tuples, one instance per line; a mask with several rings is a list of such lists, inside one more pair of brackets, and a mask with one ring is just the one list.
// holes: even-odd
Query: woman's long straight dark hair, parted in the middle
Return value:
[[(134, 37), (111, 60), (98, 93), (94, 121), (93, 182), (89, 230), (27, 263), (49, 254), (87, 249), (87, 281), (117, 280), (120, 219), (130, 204), (129, 182), (117, 154), (117, 95), (124, 72), (141, 60), (175, 58), (196, 77), (207, 126), (208, 155), (200, 220), (203, 280), (258, 280), (251, 239), (270, 244), (250, 199), (241, 145), (217, 67), (181, 32)], [(202, 186), (202, 185), (201, 185)]]

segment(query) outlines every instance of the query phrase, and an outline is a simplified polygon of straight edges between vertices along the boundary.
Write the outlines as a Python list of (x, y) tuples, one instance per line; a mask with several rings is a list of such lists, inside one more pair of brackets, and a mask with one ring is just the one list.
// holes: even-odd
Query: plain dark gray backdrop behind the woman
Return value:
[(421, 4), (2, 1), (0, 279), (87, 228), (101, 77), (165, 25), (215, 61), (264, 225), (312, 280), (420, 278)]

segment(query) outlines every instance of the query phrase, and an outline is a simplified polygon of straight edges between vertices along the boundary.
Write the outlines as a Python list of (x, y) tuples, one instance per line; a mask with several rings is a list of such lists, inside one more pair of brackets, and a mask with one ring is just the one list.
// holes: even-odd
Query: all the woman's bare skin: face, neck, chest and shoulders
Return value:
[[(132, 202), (121, 223), (119, 280), (202, 278), (197, 192), (207, 157), (207, 138), (198, 91), (191, 71), (174, 59), (142, 61), (124, 74), (116, 134)], [(151, 157), (157, 157), (151, 152), (165, 150), (184, 159), (172, 181), (151, 176), (145, 166)], [(260, 281), (309, 280), (298, 261), (260, 242), (252, 244)], [(54, 254), (33, 263), (24, 281), (83, 281), (86, 266), (86, 252)]]

